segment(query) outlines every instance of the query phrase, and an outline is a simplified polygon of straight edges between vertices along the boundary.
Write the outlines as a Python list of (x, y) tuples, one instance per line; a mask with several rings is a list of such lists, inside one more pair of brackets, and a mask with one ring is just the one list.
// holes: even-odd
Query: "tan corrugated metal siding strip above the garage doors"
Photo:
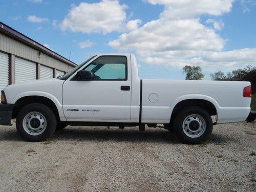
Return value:
[(66, 63), (63, 63), (44, 53), (41, 53), (39, 58), (38, 51), (36, 49), (29, 47), (22, 42), (19, 42), (2, 33), (0, 33), (0, 50), (61, 71), (67, 72), (73, 69), (73, 67), (67, 65)]

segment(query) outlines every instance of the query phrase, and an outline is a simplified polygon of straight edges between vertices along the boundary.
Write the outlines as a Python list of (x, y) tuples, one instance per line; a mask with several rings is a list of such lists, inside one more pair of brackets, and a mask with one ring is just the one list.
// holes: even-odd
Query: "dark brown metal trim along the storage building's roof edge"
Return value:
[(30, 47), (33, 47), (41, 52), (44, 52), (45, 54), (54, 57), (62, 62), (65, 62), (69, 66), (76, 67), (76, 63), (72, 62), (69, 59), (66, 59), (65, 57), (62, 57), (61, 55), (55, 53), (54, 51), (46, 48), (45, 46), (39, 44), (38, 42), (34, 41), (33, 39), (25, 36), (24, 34), (16, 31), (15, 29), (12, 29), (11, 27), (5, 25), (4, 23), (0, 22), (0, 32), (3, 32), (4, 34), (7, 34), (11, 36), (12, 38), (15, 38), (24, 44), (29, 45)]

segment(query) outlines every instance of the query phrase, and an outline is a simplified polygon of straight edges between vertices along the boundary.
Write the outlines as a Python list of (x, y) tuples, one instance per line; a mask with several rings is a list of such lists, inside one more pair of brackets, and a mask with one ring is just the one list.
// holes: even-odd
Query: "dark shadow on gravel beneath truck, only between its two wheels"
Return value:
[(116, 141), (116, 142), (162, 142), (179, 143), (179, 139), (172, 133), (155, 129), (140, 132), (137, 129), (86, 129), (69, 128), (57, 130), (54, 133), (54, 140), (87, 140), (87, 141)]

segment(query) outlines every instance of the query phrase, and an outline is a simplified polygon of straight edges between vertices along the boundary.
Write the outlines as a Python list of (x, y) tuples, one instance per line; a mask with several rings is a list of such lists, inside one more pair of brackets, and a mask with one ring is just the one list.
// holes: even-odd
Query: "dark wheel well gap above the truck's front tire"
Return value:
[(47, 106), (49, 106), (49, 108), (53, 111), (53, 113), (55, 114), (56, 119), (59, 121), (59, 113), (58, 113), (58, 109), (55, 105), (55, 103), (47, 98), (47, 97), (42, 97), (42, 96), (26, 96), (26, 97), (22, 97), (19, 98), (15, 104), (14, 104), (14, 108), (12, 111), (12, 118), (16, 118), (18, 112), (24, 108), (24, 106), (31, 104), (31, 103), (41, 103), (41, 104), (45, 104)]

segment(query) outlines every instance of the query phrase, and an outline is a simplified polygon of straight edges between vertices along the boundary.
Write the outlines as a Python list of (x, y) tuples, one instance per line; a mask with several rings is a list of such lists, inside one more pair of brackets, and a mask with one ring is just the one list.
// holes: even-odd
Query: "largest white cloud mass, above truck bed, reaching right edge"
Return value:
[(206, 69), (216, 67), (244, 67), (256, 62), (256, 48), (223, 51), (226, 40), (221, 20), (209, 19), (214, 29), (200, 23), (200, 15), (222, 15), (229, 12), (233, 0), (144, 0), (164, 5), (164, 11), (129, 33), (121, 34), (109, 42), (118, 50), (135, 50), (139, 59), (152, 65), (199, 65)]

